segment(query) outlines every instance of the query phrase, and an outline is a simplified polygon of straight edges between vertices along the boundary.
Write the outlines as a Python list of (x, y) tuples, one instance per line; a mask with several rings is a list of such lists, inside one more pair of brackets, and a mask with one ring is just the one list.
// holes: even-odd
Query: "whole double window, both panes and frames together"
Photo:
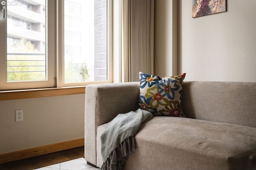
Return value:
[(0, 90), (111, 82), (108, 1), (4, 0)]

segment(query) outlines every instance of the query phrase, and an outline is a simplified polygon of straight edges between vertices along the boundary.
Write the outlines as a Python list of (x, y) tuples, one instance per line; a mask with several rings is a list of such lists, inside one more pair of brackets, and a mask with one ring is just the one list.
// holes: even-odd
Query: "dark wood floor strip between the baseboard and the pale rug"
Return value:
[(82, 157), (84, 158), (84, 147), (78, 147), (36, 156), (33, 158), (0, 164), (0, 170), (34, 170), (36, 168), (42, 168), (45, 166)]

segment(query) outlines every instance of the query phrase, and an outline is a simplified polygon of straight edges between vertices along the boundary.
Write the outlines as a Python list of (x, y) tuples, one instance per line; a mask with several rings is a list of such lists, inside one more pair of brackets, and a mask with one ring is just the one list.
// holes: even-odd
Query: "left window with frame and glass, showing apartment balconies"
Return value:
[(54, 50), (46, 48), (54, 44), (49, 37), (54, 20), (47, 16), (54, 13), (53, 2), (41, 0), (34, 5), (47, 6), (47, 13), (32, 11), (32, 4), (24, 1), (2, 1), (0, 90), (54, 86)]

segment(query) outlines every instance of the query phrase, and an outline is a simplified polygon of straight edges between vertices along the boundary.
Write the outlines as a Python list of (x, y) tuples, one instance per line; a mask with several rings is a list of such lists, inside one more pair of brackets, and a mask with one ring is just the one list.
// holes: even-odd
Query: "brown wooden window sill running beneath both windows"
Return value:
[(10, 90), (0, 92), (0, 101), (17, 100), (28, 98), (42, 98), (51, 96), (64, 96), (71, 94), (84, 94), (85, 86), (63, 87), (63, 88), (40, 88), (29, 90)]

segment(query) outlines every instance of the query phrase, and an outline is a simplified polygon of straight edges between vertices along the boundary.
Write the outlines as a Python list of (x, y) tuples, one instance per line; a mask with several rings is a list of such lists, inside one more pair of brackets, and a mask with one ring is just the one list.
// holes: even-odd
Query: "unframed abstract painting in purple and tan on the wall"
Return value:
[(192, 18), (227, 11), (227, 0), (192, 0)]

